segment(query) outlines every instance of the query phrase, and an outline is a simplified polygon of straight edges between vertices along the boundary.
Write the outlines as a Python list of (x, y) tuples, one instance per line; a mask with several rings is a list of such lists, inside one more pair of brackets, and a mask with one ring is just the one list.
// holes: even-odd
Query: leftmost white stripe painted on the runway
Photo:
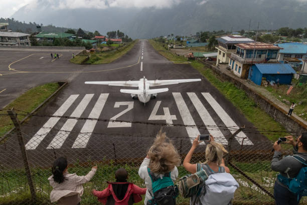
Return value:
[[(62, 106), (53, 114), (54, 116), (63, 116), (65, 112), (69, 109), (69, 107), (73, 104), (73, 102), (77, 99), (78, 94), (70, 95), (66, 101), (62, 104)], [(57, 122), (61, 118), (51, 117), (49, 120), (43, 125), (43, 127), (30, 139), (30, 141), (26, 144), (27, 150), (36, 149), (37, 146), (44, 140), (50, 130), (57, 124)]]

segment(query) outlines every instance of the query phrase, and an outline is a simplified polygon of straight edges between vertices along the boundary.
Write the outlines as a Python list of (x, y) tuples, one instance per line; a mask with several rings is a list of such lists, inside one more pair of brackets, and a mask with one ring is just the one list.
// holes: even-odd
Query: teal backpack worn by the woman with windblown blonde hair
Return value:
[(147, 201), (147, 205), (176, 205), (178, 187), (174, 185), (171, 172), (165, 173), (163, 177), (156, 177), (147, 167), (151, 179), (152, 193), (154, 196)]

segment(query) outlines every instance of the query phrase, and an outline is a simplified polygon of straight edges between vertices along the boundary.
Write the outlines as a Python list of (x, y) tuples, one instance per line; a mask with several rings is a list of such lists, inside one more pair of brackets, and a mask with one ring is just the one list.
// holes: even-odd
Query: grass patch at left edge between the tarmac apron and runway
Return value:
[[(55, 92), (60, 85), (56, 82), (48, 83), (34, 87), (17, 99), (11, 104), (3, 108), (2, 110), (9, 110), (12, 108), (22, 110), (31, 113), (37, 106), (39, 106), (45, 99), (47, 99), (53, 92)], [(0, 114), (8, 114), (6, 111), (0, 111)], [(19, 120), (22, 120), (24, 116), (18, 116)], [(0, 137), (10, 131), (14, 125), (9, 116), (0, 115)]]

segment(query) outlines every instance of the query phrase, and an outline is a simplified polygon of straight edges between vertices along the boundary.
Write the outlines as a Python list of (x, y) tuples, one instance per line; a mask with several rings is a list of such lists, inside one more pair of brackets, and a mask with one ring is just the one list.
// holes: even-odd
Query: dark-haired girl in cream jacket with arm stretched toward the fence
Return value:
[(83, 194), (82, 184), (88, 182), (96, 173), (97, 166), (85, 176), (70, 174), (67, 171), (67, 159), (59, 157), (53, 162), (52, 176), (48, 178), (50, 185), (53, 187), (50, 193), (51, 202), (58, 201), (60, 205), (77, 205), (80, 204)]

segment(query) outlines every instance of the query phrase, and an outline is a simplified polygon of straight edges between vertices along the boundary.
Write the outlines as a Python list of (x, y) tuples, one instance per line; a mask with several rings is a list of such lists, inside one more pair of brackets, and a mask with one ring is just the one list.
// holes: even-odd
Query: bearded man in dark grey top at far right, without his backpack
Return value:
[[(303, 133), (297, 137), (295, 142), (292, 136), (285, 138), (287, 139), (285, 143), (293, 146), (293, 154), (307, 160), (307, 133)], [(273, 171), (279, 171), (279, 175), (283, 177), (294, 178), (303, 165), (291, 155), (280, 159), (281, 146), (277, 142), (273, 145), (275, 151), (271, 161), (271, 168)], [(279, 180), (279, 177), (276, 178), (274, 184), (274, 198), (277, 205), (298, 204), (300, 200), (300, 197), (297, 200), (297, 194), (292, 193), (287, 185)]]

